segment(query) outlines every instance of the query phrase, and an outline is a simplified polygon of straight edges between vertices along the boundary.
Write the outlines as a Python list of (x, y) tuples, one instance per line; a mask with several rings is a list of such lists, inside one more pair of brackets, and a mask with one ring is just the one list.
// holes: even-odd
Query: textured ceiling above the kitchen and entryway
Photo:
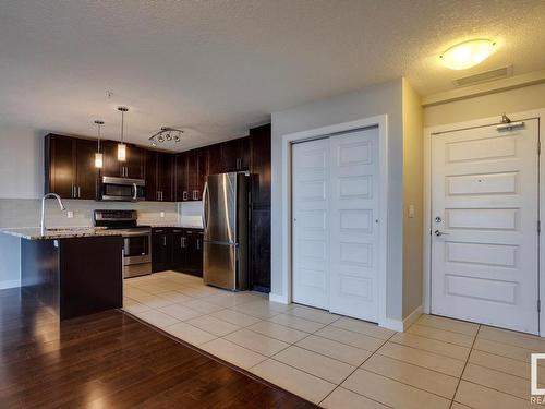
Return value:
[[(0, 127), (93, 135), (101, 118), (117, 137), (124, 104), (128, 140), (183, 127), (185, 149), (402, 75), (427, 95), (506, 64), (544, 69), (543, 27), (543, 0), (2, 0)], [(462, 72), (438, 63), (474, 37), (498, 51)]]

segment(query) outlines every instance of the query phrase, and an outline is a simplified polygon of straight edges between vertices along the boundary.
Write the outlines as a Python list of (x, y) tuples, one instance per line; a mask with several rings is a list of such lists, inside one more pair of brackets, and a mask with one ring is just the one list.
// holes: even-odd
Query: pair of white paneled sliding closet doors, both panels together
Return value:
[(378, 128), (292, 146), (293, 301), (378, 321)]

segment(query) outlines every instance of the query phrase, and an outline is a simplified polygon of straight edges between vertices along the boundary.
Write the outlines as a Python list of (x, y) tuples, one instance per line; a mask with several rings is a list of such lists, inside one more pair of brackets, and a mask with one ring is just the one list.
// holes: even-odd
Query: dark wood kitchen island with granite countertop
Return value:
[(21, 240), (21, 291), (59, 320), (121, 308), (123, 239), (114, 230), (4, 229)]

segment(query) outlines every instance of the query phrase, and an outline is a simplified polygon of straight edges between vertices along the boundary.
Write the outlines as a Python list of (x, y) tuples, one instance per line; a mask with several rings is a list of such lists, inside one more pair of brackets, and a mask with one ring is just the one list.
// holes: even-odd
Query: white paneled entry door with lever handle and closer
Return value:
[(538, 123), (432, 136), (432, 313), (538, 332)]

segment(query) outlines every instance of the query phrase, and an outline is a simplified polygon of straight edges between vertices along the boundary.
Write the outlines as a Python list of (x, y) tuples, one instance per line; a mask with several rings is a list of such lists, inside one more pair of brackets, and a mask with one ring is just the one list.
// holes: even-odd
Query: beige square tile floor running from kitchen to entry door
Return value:
[(433, 315), (395, 333), (174, 272), (125, 280), (124, 297), (141, 320), (325, 408), (535, 407), (535, 336)]

